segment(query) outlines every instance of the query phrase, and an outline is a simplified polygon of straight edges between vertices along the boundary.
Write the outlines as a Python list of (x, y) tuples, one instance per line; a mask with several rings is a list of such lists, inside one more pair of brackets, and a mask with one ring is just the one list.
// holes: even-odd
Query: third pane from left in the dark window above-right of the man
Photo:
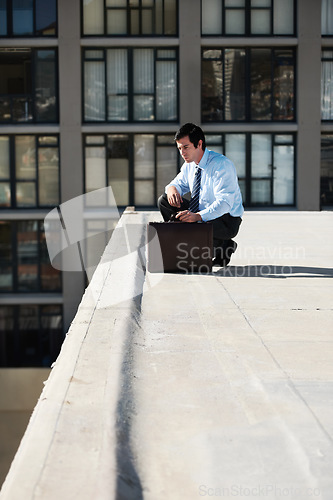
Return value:
[(271, 50), (251, 50), (251, 117), (271, 120)]

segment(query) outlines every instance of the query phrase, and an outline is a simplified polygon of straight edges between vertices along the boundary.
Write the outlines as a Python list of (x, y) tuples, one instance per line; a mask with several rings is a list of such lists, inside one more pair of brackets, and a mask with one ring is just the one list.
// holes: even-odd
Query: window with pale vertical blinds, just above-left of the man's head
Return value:
[(86, 122), (176, 121), (176, 49), (87, 49)]

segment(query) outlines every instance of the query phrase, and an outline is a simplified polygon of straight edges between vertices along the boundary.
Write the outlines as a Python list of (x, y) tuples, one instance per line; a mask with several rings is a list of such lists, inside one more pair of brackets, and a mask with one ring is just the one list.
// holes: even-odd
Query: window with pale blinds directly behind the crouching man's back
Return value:
[(294, 205), (292, 134), (208, 134), (206, 143), (234, 163), (246, 206)]

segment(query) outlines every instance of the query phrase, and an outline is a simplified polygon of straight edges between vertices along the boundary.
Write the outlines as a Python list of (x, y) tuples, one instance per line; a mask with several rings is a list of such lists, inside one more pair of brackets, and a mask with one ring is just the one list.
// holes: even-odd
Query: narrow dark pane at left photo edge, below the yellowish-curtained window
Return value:
[(13, 290), (11, 223), (0, 221), (0, 290)]

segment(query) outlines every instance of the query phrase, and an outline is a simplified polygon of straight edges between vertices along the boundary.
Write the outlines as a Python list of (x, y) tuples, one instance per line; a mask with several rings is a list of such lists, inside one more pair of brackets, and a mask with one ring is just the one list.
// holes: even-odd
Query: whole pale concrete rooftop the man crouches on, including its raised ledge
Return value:
[(146, 273), (149, 220), (122, 216), (1, 500), (331, 500), (333, 213), (248, 211), (205, 276)]

